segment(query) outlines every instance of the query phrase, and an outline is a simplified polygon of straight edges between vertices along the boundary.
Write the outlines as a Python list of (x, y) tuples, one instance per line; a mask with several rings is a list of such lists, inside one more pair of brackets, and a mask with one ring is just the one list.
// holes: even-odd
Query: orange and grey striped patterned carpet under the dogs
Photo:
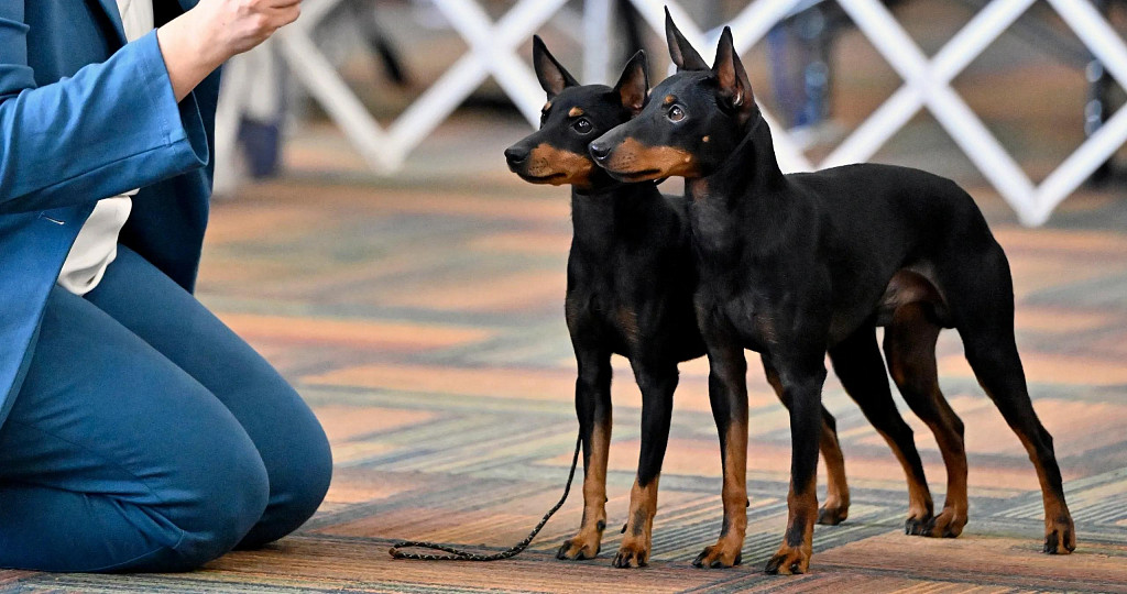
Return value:
[[(970, 523), (956, 540), (902, 533), (900, 470), (832, 380), (853, 488), (850, 518), (815, 532), (813, 574), (760, 573), (786, 522), (787, 416), (749, 376), (745, 565), (689, 565), (720, 524), (720, 459), (707, 365), (683, 365), (650, 567), (618, 570), (619, 534), (597, 560), (557, 561), (580, 496), (530, 551), (497, 564), (393, 561), (400, 538), (499, 550), (559, 496), (576, 422), (562, 321), (567, 194), (513, 181), (481, 187), (291, 180), (220, 203), (202, 298), (314, 406), (332, 440), (328, 500), (296, 535), (174, 576), (0, 571), (0, 591), (432, 592), (826, 591), (1127, 592), (1127, 203), (1072, 200), (1054, 227), (1008, 222), (983, 194), (1018, 287), (1018, 340), (1038, 413), (1056, 437), (1080, 544), (1040, 550), (1041, 504), (1017, 437), (980, 393), (957, 338), (941, 380), (967, 425)], [(610, 524), (624, 521), (640, 396), (616, 361)], [(902, 410), (906, 410), (903, 402)], [(913, 419), (937, 500), (943, 469)]]

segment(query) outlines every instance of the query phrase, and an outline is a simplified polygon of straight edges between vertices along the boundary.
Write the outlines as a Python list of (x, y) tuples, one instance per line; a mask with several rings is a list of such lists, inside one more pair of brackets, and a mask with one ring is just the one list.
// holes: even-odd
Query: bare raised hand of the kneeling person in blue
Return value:
[(157, 32), (176, 100), (300, 15), (301, 0), (199, 0)]

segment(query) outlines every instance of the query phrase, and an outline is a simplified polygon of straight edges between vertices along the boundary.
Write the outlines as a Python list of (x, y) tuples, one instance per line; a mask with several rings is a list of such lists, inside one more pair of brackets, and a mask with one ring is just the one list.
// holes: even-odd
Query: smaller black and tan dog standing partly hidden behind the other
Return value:
[[(579, 533), (560, 547), (560, 559), (589, 559), (606, 526), (606, 456), (611, 438), (612, 353), (625, 356), (642, 392), (641, 455), (630, 497), (618, 567), (646, 565), (657, 508), (657, 481), (669, 433), (677, 363), (704, 354), (692, 300), (696, 274), (686, 203), (663, 196), (651, 181), (621, 183), (595, 166), (588, 143), (638, 114), (646, 99), (645, 54), (627, 65), (618, 85), (579, 86), (533, 39), (533, 63), (548, 94), (540, 130), (505, 151), (509, 168), (535, 184), (571, 185), (574, 239), (568, 258), (567, 322), (578, 362), (576, 411), (584, 447), (584, 518)], [(767, 378), (786, 404), (777, 375)], [(842, 376), (846, 381), (846, 376)], [(885, 389), (862, 392), (862, 409), (886, 435), (912, 432)], [(849, 513), (849, 488), (833, 416), (823, 409), (820, 449), (829, 477), (818, 522), (837, 524)], [(718, 417), (719, 419), (720, 417)], [(744, 460), (746, 447), (729, 442), (726, 459)], [(919, 467), (914, 446), (906, 455)], [(727, 468), (736, 468), (729, 464)], [(742, 476), (742, 475), (740, 475)], [(746, 498), (738, 502), (746, 504)], [(920, 507), (922, 520), (931, 500)], [(698, 564), (703, 559), (698, 559)]]

